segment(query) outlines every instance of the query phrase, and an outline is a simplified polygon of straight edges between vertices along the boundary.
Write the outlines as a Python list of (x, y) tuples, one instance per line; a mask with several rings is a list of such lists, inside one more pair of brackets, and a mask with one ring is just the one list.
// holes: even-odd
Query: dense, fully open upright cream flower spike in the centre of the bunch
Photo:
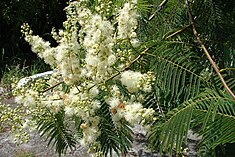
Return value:
[(114, 28), (109, 21), (102, 20), (100, 15), (93, 15), (83, 28), (86, 34), (83, 46), (86, 49), (85, 67), (95, 82), (107, 79), (110, 68), (116, 61), (112, 51), (114, 45)]

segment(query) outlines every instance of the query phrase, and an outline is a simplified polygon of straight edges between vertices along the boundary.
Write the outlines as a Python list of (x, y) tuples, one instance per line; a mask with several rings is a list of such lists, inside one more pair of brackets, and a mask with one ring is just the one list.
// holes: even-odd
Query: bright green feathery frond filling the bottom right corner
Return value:
[(235, 143), (235, 102), (230, 96), (208, 93), (209, 101), (204, 100), (195, 109), (195, 122), (201, 124), (199, 133), (202, 140), (200, 151), (205, 156), (219, 145)]

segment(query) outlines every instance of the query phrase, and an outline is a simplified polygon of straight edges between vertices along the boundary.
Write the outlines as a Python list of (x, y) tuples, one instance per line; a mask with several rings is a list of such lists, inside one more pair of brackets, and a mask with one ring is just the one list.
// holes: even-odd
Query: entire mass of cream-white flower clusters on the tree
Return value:
[[(136, 1), (124, 3), (118, 15), (114, 16), (117, 23), (115, 19), (107, 20), (105, 14), (92, 12), (85, 3), (85, 0), (74, 1), (65, 8), (67, 20), (63, 23), (64, 30), (52, 30), (52, 36), (58, 43), (56, 47), (32, 35), (27, 24), (22, 27), (32, 50), (54, 68), (55, 72), (47, 83), (54, 86), (63, 81), (69, 91), (62, 92), (62, 85), (45, 94), (30, 89), (22, 92), (24, 94), (17, 97), (17, 102), (26, 104), (32, 110), (35, 107), (33, 104), (37, 104), (38, 108), (46, 108), (54, 114), (63, 109), (67, 118), (78, 116), (82, 120), (80, 128), (84, 135), (81, 142), (91, 144), (100, 135), (100, 118), (96, 112), (101, 106), (97, 99), (99, 93), (106, 92), (104, 99), (115, 123), (121, 119), (132, 124), (142, 123), (153, 116), (153, 110), (143, 108), (138, 99), (124, 96), (116, 82), (121, 81), (129, 94), (134, 95), (139, 91), (150, 92), (154, 77), (151, 73), (123, 70), (133, 60), (135, 55), (131, 48), (138, 43), (135, 32), (138, 25)], [(104, 10), (102, 7), (100, 9)], [(126, 46), (128, 44), (121, 47), (120, 41), (129, 39), (131, 48)], [(118, 60), (117, 56), (124, 56), (119, 52), (125, 49), (125, 57)], [(115, 77), (119, 69), (124, 71), (120, 80), (112, 82), (113, 78), (119, 79)], [(106, 81), (111, 83), (106, 84)]]

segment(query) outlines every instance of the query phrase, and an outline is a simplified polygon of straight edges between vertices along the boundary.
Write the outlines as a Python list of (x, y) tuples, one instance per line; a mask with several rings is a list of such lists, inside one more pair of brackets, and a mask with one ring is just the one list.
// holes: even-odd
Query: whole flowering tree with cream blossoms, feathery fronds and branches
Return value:
[(18, 102), (59, 154), (78, 139), (98, 155), (126, 154), (131, 127), (140, 123), (150, 127), (152, 149), (179, 155), (197, 127), (199, 153), (215, 155), (235, 142), (234, 36), (221, 39), (216, 31), (230, 31), (229, 3), (70, 2), (64, 30), (52, 31), (58, 46), (23, 26), (32, 50), (55, 73), (21, 90)]

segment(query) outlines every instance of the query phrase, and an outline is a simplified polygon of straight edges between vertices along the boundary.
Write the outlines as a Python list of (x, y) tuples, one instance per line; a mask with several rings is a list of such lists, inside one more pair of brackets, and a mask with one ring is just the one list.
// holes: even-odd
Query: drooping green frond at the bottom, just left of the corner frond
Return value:
[[(181, 152), (181, 146), (187, 137), (190, 127), (193, 108), (191, 106), (170, 111), (165, 117), (160, 118), (149, 133), (150, 146), (160, 152)], [(169, 119), (168, 119), (168, 118)]]

